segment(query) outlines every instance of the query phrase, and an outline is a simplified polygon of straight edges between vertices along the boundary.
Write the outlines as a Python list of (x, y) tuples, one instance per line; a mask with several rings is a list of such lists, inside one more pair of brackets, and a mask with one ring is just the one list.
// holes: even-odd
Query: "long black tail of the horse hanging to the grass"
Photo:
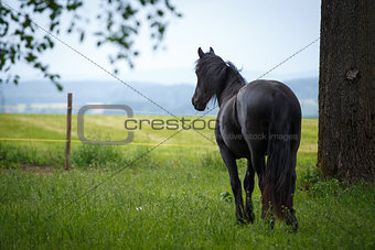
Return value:
[(285, 100), (279, 104), (281, 107), (274, 110), (274, 119), (268, 132), (262, 204), (266, 210), (271, 209), (277, 217), (283, 219), (285, 209), (292, 209), (296, 172), (291, 149), (290, 109), (282, 107), (288, 105)]

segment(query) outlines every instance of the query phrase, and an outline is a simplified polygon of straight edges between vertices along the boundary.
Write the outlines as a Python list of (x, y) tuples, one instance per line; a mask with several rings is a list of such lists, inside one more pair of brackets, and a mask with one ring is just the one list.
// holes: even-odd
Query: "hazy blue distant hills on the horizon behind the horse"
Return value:
[[(297, 95), (303, 117), (318, 117), (318, 78), (302, 78), (285, 81)], [(173, 115), (195, 115), (191, 98), (195, 86), (188, 84), (162, 85), (152, 83), (129, 83), (132, 88), (169, 110)], [(66, 93), (73, 93), (73, 106), (87, 104), (117, 104), (130, 106), (135, 115), (168, 115), (157, 105), (119, 81), (66, 81), (58, 91), (49, 81), (24, 81), (19, 86), (0, 85), (1, 112), (49, 112), (64, 113)], [(4, 106), (19, 106), (13, 109)], [(39, 109), (34, 109), (34, 108)], [(213, 107), (211, 104), (210, 107)], [(216, 110), (211, 113), (215, 115)]]

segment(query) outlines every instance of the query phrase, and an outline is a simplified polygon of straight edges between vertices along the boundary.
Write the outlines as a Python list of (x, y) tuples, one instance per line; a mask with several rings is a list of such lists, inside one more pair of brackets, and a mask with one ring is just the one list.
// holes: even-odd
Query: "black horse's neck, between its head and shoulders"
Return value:
[(228, 101), (232, 97), (237, 95), (238, 90), (245, 86), (243, 78), (237, 74), (229, 73), (225, 81), (225, 87), (216, 94), (219, 107), (222, 107), (222, 105)]

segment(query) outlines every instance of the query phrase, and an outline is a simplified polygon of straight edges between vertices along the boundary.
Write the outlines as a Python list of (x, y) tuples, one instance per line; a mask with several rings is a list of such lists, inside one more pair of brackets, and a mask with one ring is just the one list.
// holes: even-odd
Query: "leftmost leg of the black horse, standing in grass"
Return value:
[(221, 155), (229, 172), (231, 186), (232, 186), (232, 191), (235, 196), (235, 203), (236, 203), (236, 218), (238, 221), (245, 222), (244, 221), (245, 216), (244, 216), (243, 191), (240, 187), (240, 181), (238, 178), (236, 159), (226, 149), (222, 149), (222, 148), (221, 148)]

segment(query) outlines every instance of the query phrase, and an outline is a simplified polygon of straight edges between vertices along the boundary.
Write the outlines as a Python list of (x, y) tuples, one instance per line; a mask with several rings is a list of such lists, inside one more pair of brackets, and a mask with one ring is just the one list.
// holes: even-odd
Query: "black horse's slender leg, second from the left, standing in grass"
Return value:
[(251, 194), (254, 191), (254, 175), (255, 171), (253, 167), (251, 160), (247, 160), (247, 171), (244, 180), (244, 188), (246, 193), (246, 204), (245, 204), (245, 217), (249, 222), (254, 222), (255, 215), (253, 210)]

